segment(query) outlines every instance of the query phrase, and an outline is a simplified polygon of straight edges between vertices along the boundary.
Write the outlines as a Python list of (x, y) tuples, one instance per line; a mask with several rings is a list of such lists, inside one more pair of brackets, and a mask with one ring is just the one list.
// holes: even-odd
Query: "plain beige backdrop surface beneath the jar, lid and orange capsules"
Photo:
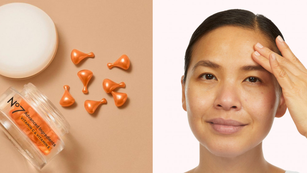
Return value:
[[(44, 10), (56, 25), (59, 45), (55, 58), (40, 74), (22, 80), (0, 76), (0, 94), (9, 86), (21, 90), (32, 82), (64, 115), (71, 125), (64, 135), (66, 147), (41, 171), (36, 170), (0, 133), (0, 172), (152, 172), (152, 1), (7, 1), (26, 2)], [(70, 59), (72, 49), (89, 53), (78, 65)], [(108, 69), (122, 54), (130, 58), (130, 69)], [(94, 74), (88, 94), (77, 72)], [(109, 78), (125, 82), (128, 100), (116, 107), (111, 94), (103, 91)], [(71, 107), (61, 107), (63, 86), (70, 86), (76, 99)], [(84, 101), (107, 99), (95, 114), (88, 114)]]

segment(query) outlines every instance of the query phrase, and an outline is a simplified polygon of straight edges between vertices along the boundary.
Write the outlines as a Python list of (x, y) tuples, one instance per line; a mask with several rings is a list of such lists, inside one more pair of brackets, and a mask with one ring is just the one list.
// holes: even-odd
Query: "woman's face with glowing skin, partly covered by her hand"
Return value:
[[(269, 133), (274, 117), (286, 112), (276, 78), (252, 58), (257, 42), (269, 47), (255, 31), (225, 26), (200, 38), (194, 47), (182, 85), (182, 103), (193, 134), (215, 155), (234, 157), (257, 146)], [(232, 134), (220, 133), (208, 122), (215, 118), (245, 126)]]

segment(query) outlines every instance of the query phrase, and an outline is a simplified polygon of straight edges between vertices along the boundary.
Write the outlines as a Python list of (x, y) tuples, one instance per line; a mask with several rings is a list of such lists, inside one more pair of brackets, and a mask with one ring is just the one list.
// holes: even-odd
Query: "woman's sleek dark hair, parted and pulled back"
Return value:
[(185, 75), (182, 83), (185, 83), (188, 67), (191, 63), (193, 47), (196, 42), (199, 41), (205, 34), (208, 34), (214, 29), (222, 26), (235, 26), (247, 30), (255, 30), (262, 34), (262, 36), (270, 43), (270, 50), (282, 56), (281, 52), (278, 50), (275, 39), (278, 35), (280, 35), (283, 39), (284, 37), (278, 30), (277, 26), (270, 19), (266, 18), (262, 14), (255, 15), (248, 10), (231, 9), (221, 11), (206, 18), (204, 22), (202, 22), (194, 31), (185, 52)]

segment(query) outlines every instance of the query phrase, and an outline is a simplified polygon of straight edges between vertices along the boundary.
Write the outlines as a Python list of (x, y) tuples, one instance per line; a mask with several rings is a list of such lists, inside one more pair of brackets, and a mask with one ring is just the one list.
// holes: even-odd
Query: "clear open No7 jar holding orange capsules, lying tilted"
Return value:
[(70, 125), (32, 83), (19, 93), (9, 87), (0, 96), (0, 124), (18, 151), (41, 169), (64, 148), (60, 136)]

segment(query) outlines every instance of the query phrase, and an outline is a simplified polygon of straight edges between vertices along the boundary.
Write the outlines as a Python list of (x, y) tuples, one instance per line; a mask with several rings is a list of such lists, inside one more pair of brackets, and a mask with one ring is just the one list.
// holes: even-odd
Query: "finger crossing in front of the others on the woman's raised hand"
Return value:
[(282, 87), (282, 91), (292, 91), (294, 83), (289, 77), (289, 73), (282, 67), (276, 58), (276, 53), (271, 53), (269, 56), (270, 67), (274, 76), (276, 77), (279, 85)]

